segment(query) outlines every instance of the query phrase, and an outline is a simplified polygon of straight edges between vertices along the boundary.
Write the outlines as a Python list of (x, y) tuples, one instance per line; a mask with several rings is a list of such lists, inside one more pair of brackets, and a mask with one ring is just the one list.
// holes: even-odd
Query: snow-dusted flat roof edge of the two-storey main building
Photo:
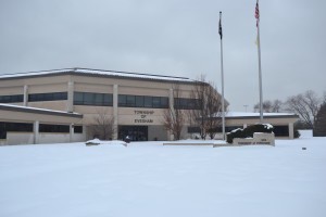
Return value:
[(52, 71), (39, 71), (17, 74), (3, 74), (0, 75), (1, 79), (18, 79), (25, 77), (41, 77), (41, 76), (53, 76), (53, 75), (82, 75), (82, 76), (97, 76), (97, 77), (114, 77), (114, 78), (128, 78), (128, 79), (141, 79), (141, 80), (160, 80), (160, 81), (178, 81), (178, 82), (198, 82), (186, 77), (176, 76), (164, 76), (145, 73), (128, 73), (118, 71), (103, 71), (103, 69), (91, 69), (91, 68), (63, 68)]

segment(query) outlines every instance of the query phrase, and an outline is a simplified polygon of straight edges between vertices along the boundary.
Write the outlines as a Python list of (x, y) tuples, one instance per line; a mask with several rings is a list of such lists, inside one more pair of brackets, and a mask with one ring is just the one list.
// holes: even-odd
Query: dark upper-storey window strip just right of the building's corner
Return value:
[(74, 92), (74, 105), (112, 106), (113, 95), (110, 93)]

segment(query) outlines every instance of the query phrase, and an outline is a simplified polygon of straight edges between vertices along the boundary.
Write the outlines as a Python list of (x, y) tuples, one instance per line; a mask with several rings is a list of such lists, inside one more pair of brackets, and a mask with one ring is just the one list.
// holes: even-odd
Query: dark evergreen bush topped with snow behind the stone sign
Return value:
[(234, 143), (235, 138), (253, 138), (254, 132), (273, 132), (274, 127), (269, 124), (255, 124), (244, 129), (235, 129), (226, 135), (226, 141)]

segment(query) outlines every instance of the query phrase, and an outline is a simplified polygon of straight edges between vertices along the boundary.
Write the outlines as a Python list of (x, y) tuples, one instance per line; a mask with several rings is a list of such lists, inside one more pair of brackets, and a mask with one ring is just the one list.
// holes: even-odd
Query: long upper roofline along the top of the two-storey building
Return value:
[[(125, 76), (92, 74), (92, 73), (87, 73), (87, 72), (82, 74), (76, 71), (120, 73), (120, 74), (125, 74)], [(40, 73), (40, 74), (37, 75), (37, 73)], [(49, 74), (41, 74), (41, 73), (49, 73)], [(110, 78), (117, 78), (117, 79), (151, 80), (151, 81), (160, 81), (160, 82), (163, 81), (163, 82), (181, 82), (181, 84), (188, 84), (188, 82), (192, 84), (192, 82), (198, 81), (198, 80), (192, 80), (187, 77), (178, 77), (178, 76), (165, 76), (165, 75), (145, 74), (145, 73), (128, 73), (128, 72), (123, 72), (123, 71), (103, 71), (103, 69), (82, 68), (82, 67), (61, 68), (61, 69), (51, 69), (51, 71), (36, 71), (36, 72), (17, 73), (17, 74), (3, 74), (3, 75), (0, 75), (0, 80), (35, 78), (35, 77), (50, 77), (50, 76), (61, 76), (61, 75), (78, 75), (78, 76), (88, 76), (88, 77), (110, 77)], [(158, 77), (158, 78), (156, 79), (155, 78), (146, 78), (146, 77), (140, 78), (140, 77), (133, 77), (129, 75), (152, 76), (152, 77)], [(9, 77), (5, 77), (5, 76), (9, 76)], [(185, 79), (185, 80), (168, 80), (168, 79), (164, 79), (164, 78)]]

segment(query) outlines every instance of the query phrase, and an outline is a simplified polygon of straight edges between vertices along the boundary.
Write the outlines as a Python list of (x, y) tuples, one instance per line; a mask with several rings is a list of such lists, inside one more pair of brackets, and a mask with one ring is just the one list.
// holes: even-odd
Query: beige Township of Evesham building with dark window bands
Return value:
[[(191, 108), (196, 82), (184, 77), (87, 68), (1, 75), (0, 144), (85, 141), (97, 137), (91, 126), (100, 117), (110, 117), (114, 128), (110, 139), (171, 140), (162, 124), (163, 113), (175, 103)], [(286, 124), (279, 118), (276, 122), (292, 131), (297, 116), (288, 116)], [(236, 119), (228, 118), (226, 124), (243, 124)], [(184, 139), (191, 137), (187, 125)]]

